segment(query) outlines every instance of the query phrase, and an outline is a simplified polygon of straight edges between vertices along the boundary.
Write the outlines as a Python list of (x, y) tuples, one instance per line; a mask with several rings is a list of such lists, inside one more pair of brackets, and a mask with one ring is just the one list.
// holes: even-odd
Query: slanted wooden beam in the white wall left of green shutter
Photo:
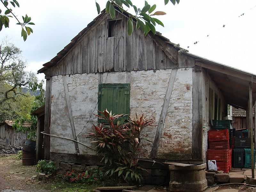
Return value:
[[(73, 115), (72, 115), (72, 108), (71, 108), (70, 98), (69, 98), (69, 94), (68, 94), (67, 77), (65, 75), (63, 75), (62, 78), (63, 78), (65, 97), (66, 97), (67, 106), (68, 106), (68, 117), (69, 117), (71, 129), (72, 129), (72, 135), (73, 135), (73, 139), (77, 140), (76, 139), (76, 129), (75, 129), (74, 119), (73, 119)], [(79, 154), (80, 152), (79, 152), (79, 148), (78, 148), (78, 143), (76, 141), (74, 141), (74, 144), (75, 144), (75, 148), (76, 148), (76, 154)]]

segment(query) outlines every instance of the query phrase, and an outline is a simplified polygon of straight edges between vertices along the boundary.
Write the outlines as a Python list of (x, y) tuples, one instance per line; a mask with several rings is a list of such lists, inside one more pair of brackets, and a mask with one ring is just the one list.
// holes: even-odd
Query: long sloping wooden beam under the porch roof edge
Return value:
[[(243, 79), (243, 80), (246, 80), (246, 81), (249, 81), (249, 82), (252, 81), (252, 76), (251, 75), (249, 75), (249, 74), (246, 75), (242, 71), (241, 72), (237, 71), (237, 69), (236, 70), (235, 69), (230, 69), (226, 66), (220, 66), (220, 65), (217, 65), (217, 64), (205, 64), (205, 63), (198, 62), (198, 61), (196, 61), (195, 65), (203, 67), (203, 68), (211, 69), (213, 71), (217, 71), (217, 72), (220, 72), (220, 73), (224, 73), (224, 74), (229, 75), (229, 76), (238, 77), (240, 79)], [(254, 81), (255, 81), (255, 78), (254, 78)]]

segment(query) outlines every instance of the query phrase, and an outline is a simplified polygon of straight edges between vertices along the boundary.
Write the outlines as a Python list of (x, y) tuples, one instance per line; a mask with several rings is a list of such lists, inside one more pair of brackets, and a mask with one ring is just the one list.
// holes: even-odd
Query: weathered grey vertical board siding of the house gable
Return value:
[(54, 76), (194, 66), (194, 59), (183, 54), (178, 56), (177, 49), (159, 36), (148, 34), (145, 37), (141, 29), (129, 36), (126, 32), (127, 18), (123, 15), (117, 16), (111, 28), (113, 36), (108, 37), (108, 17), (103, 15), (45, 74)]

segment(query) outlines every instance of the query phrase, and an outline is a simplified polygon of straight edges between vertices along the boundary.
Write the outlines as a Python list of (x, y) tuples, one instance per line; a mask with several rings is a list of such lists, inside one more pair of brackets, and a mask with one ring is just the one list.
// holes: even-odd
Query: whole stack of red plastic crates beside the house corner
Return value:
[(228, 129), (208, 131), (208, 141), (207, 160), (216, 160), (218, 171), (228, 173), (231, 169)]

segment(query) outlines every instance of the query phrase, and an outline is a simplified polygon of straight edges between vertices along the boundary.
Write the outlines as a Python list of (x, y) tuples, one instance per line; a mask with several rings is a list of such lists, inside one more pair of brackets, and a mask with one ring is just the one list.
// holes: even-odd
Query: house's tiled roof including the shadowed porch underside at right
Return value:
[[(118, 11), (118, 10), (117, 10)], [(127, 17), (130, 15), (128, 12), (119, 12)], [(87, 25), (77, 36), (75, 36), (71, 42), (64, 47), (57, 56), (52, 58), (51, 61), (45, 63), (43, 68), (38, 70), (38, 73), (44, 73), (47, 69), (55, 66), (58, 62), (68, 53), (68, 51), (76, 44), (77, 40), (83, 36), (93, 25), (96, 23), (103, 15), (105, 10), (101, 12), (91, 23)], [(164, 42), (175, 45), (170, 42), (170, 40), (161, 33), (157, 32), (156, 36), (159, 36)], [(177, 49), (182, 49), (176, 46)], [(183, 49), (184, 50), (184, 49)], [(248, 73), (236, 68), (232, 68), (221, 63), (205, 59), (203, 57), (183, 52), (187, 56), (193, 57), (195, 59), (195, 65), (206, 68), (208, 74), (211, 76), (212, 80), (217, 84), (217, 86), (222, 91), (225, 100), (228, 104), (235, 106), (236, 108), (246, 109), (248, 99), (249, 99), (249, 83), (252, 82), (252, 102), (256, 100), (256, 75)]]

